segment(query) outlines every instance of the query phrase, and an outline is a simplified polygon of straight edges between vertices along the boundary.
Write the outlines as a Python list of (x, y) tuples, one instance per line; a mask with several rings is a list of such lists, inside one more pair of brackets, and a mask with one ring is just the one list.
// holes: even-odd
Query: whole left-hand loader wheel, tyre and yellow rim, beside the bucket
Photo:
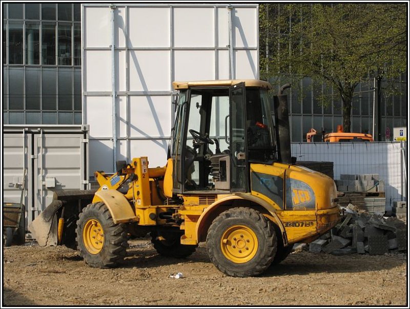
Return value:
[(111, 268), (124, 261), (128, 247), (126, 225), (115, 224), (103, 202), (83, 209), (77, 220), (76, 234), (80, 256), (91, 267)]

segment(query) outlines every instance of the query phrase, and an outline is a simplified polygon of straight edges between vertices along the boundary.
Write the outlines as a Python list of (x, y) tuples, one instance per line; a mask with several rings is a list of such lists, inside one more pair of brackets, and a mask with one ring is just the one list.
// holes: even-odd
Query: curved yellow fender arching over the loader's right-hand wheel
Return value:
[[(288, 243), (288, 240), (286, 237), (285, 229), (278, 215), (276, 214), (275, 208), (267, 201), (257, 196), (250, 195), (250, 194), (230, 195), (225, 198), (218, 199), (216, 202), (209, 205), (209, 207), (201, 214), (196, 224), (196, 235), (197, 235), (198, 242), (205, 241), (207, 234), (208, 234), (208, 229), (211, 226), (212, 221), (222, 211), (228, 209), (226, 207), (223, 207), (224, 205), (232, 205), (233, 203), (235, 203), (235, 201), (240, 203), (240, 201), (244, 201), (244, 200), (260, 205), (261, 207), (260, 211), (263, 213), (263, 215), (278, 225), (281, 231), (281, 234), (282, 234), (283, 243), (286, 245)], [(236, 207), (236, 206), (232, 205), (231, 207)]]

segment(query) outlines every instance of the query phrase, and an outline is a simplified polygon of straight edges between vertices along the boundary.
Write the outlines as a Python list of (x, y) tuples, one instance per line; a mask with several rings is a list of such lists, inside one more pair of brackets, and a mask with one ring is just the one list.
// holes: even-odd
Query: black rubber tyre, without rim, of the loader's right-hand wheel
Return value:
[[(232, 225), (245, 225), (252, 229), (258, 239), (254, 258), (245, 263), (227, 259), (220, 248), (220, 238)], [(231, 208), (221, 213), (212, 222), (207, 235), (207, 252), (215, 267), (232, 277), (252, 277), (268, 269), (276, 254), (277, 238), (273, 223), (260, 212), (245, 207)]]

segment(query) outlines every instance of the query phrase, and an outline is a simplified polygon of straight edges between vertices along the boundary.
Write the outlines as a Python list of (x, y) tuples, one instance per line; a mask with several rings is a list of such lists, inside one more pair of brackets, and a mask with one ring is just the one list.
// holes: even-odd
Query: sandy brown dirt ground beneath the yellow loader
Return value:
[[(121, 267), (93, 269), (65, 246), (26, 242), (3, 248), (3, 305), (407, 305), (406, 265), (405, 253), (295, 251), (260, 277), (233, 278), (204, 243), (174, 259), (132, 240)], [(170, 278), (177, 272), (183, 278)]]

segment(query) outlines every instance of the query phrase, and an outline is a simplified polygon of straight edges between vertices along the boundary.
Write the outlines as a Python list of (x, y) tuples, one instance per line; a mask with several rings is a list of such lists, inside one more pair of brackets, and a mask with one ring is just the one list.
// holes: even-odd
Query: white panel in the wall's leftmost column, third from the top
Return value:
[[(90, 137), (112, 136), (112, 104), (109, 96), (88, 96), (85, 102), (86, 121), (90, 125)], [(90, 156), (91, 158), (92, 156)]]

